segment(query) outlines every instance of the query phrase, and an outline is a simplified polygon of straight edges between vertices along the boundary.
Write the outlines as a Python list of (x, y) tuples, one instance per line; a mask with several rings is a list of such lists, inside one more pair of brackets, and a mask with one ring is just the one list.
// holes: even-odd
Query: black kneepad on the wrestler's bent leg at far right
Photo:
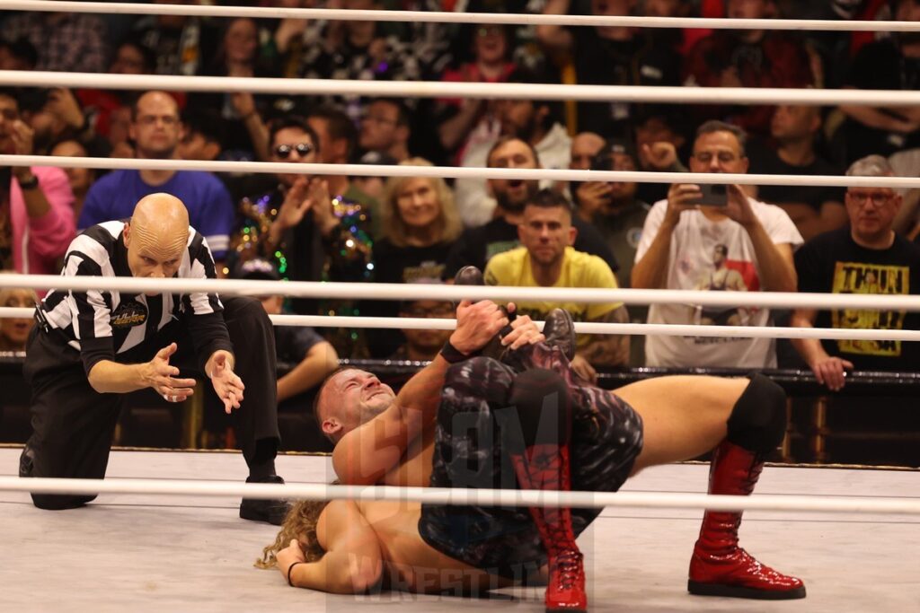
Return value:
[(749, 378), (751, 382), (731, 409), (728, 439), (742, 448), (767, 453), (786, 434), (786, 392), (760, 373)]

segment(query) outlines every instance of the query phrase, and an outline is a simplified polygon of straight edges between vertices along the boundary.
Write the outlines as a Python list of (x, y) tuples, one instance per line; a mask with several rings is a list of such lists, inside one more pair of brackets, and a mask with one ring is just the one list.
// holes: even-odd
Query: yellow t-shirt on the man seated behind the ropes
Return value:
[[(541, 287), (534, 279), (530, 267), (530, 254), (525, 247), (518, 247), (503, 254), (494, 255), (486, 267), (487, 285), (508, 285), (518, 288)], [(604, 288), (616, 289), (616, 278), (607, 263), (597, 255), (590, 255), (566, 247), (562, 260), (562, 272), (553, 288)], [(620, 306), (620, 303), (580, 304), (578, 302), (521, 302), (518, 312), (535, 320), (543, 320), (547, 312), (561, 307), (570, 312), (577, 322), (595, 321)], [(584, 336), (584, 335), (580, 335)], [(579, 345), (583, 340), (579, 339)]]

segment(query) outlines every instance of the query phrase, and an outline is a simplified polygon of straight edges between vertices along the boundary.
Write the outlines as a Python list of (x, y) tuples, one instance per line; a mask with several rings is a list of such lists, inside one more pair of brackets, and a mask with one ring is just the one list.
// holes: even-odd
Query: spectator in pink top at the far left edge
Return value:
[[(33, 131), (0, 89), (0, 152), (31, 155)], [(74, 238), (74, 195), (60, 168), (0, 166), (0, 270), (53, 274)]]

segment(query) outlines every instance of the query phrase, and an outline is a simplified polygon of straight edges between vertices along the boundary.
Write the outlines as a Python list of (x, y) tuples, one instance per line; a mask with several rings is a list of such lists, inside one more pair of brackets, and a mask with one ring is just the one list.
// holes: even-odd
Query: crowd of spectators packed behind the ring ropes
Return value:
[[(158, 1), (158, 0), (156, 0)], [(659, 17), (916, 21), (920, 0), (264, 1), (335, 6)], [(915, 33), (512, 27), (305, 19), (3, 12), (0, 69), (111, 74), (915, 90)], [(668, 106), (503, 99), (0, 89), (0, 151), (137, 159), (650, 170), (799, 175), (795, 186), (212, 175), (0, 168), (0, 268), (57, 273), (77, 233), (166, 192), (189, 211), (217, 277), (451, 282), (713, 291), (920, 291), (918, 190), (815, 187), (811, 175), (920, 175), (920, 107)], [(29, 304), (2, 292), (3, 306)], [(438, 301), (263, 301), (268, 312), (447, 316)], [(914, 329), (905, 312), (564, 306), (586, 322)], [(22, 326), (0, 321), (3, 348)], [(313, 387), (336, 358), (431, 359), (437, 333), (284, 335), (279, 355)], [(281, 338), (281, 336), (279, 336)], [(18, 339), (18, 341), (17, 341)], [(309, 366), (307, 366), (309, 364)], [(832, 389), (846, 369), (914, 370), (898, 341), (620, 336), (579, 339), (574, 368), (811, 368)]]

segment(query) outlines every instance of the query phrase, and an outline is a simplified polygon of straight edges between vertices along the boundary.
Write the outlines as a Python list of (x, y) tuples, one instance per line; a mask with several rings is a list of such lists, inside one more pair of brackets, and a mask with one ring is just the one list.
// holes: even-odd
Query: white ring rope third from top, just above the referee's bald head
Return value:
[[(363, 164), (290, 164), (286, 162), (229, 162), (202, 160), (140, 160), (131, 157), (63, 157), (0, 154), (0, 166), (55, 166), (109, 170), (201, 170), (211, 173), (270, 173), (286, 175), (405, 176), (476, 179), (536, 179), (626, 183), (713, 183), (735, 185), (800, 186), (801, 175), (739, 175), (730, 173), (653, 173), (619, 170), (552, 170), (548, 168), (482, 168)], [(808, 176), (811, 187), (920, 187), (920, 176)]]

